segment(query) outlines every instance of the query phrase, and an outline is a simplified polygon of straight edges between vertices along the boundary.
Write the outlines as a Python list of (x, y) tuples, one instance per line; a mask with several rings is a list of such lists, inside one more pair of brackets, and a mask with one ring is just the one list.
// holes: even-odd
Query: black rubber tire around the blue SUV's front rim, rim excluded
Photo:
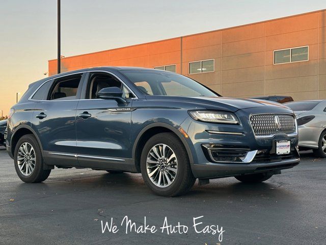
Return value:
[[(179, 141), (176, 141), (174, 138), (168, 138), (166, 137), (167, 134), (157, 134), (150, 138), (143, 149), (142, 155), (141, 155), (141, 172), (143, 179), (145, 183), (155, 192), (160, 195), (171, 195), (172, 193), (176, 192), (179, 188), (179, 186), (182, 183), (182, 180), (184, 178), (185, 168), (186, 164), (189, 164), (188, 156), (186, 154), (186, 151), (183, 145), (180, 144)], [(174, 152), (177, 158), (177, 175), (173, 181), (173, 183), (167, 187), (158, 187), (152, 181), (150, 180), (148, 174), (147, 174), (147, 167), (146, 167), (146, 159), (149, 151), (152, 149), (152, 147), (156, 144), (166, 144), (168, 145)]]

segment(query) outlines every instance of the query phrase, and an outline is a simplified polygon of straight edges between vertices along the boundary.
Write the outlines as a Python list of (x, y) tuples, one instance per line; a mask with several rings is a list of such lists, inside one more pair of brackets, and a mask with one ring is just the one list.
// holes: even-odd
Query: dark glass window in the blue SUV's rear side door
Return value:
[(81, 74), (59, 78), (53, 83), (47, 99), (49, 101), (75, 100), (81, 79)]

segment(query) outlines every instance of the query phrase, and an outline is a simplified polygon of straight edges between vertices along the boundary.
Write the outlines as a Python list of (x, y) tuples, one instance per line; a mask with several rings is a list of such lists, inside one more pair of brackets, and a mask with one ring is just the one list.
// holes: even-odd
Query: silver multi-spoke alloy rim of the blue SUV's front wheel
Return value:
[(173, 150), (166, 144), (156, 144), (146, 159), (147, 175), (158, 187), (170, 186), (177, 176), (178, 161)]

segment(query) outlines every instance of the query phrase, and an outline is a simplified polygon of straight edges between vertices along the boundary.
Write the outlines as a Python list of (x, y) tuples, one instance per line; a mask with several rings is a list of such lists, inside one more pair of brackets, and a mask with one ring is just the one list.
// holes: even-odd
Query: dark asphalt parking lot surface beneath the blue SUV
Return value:
[[(26, 184), (0, 148), (0, 244), (324, 244), (326, 241), (326, 160), (311, 152), (282, 175), (261, 184), (235, 178), (211, 180), (186, 195), (154, 195), (140, 174), (91, 169), (53, 169), (43, 183)], [(125, 232), (125, 216), (157, 232)], [(203, 217), (201, 217), (203, 216)], [(118, 232), (102, 233), (105, 225)], [(186, 233), (169, 233), (184, 225)], [(203, 222), (193, 227), (196, 223)], [(204, 233), (205, 226), (223, 227)], [(176, 228), (177, 229), (177, 228)], [(221, 237), (220, 237), (221, 238)]]

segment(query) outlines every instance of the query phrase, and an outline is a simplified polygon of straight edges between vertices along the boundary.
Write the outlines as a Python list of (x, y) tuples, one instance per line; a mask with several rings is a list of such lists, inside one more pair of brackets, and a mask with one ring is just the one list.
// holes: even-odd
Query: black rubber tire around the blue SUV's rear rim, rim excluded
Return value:
[[(34, 152), (35, 152), (35, 157), (36, 157), (35, 168), (33, 170), (33, 173), (30, 176), (24, 176), (20, 172), (19, 167), (18, 167), (18, 161), (17, 161), (19, 147), (21, 146), (22, 143), (25, 143), (25, 142), (30, 143), (33, 146)], [(18, 142), (16, 144), (15, 152), (14, 152), (14, 163), (15, 163), (16, 173), (17, 173), (18, 177), (23, 182), (32, 183), (32, 182), (36, 181), (38, 176), (41, 174), (41, 172), (43, 171), (43, 158), (42, 158), (40, 146), (33, 135), (24, 135), (18, 140)]]

